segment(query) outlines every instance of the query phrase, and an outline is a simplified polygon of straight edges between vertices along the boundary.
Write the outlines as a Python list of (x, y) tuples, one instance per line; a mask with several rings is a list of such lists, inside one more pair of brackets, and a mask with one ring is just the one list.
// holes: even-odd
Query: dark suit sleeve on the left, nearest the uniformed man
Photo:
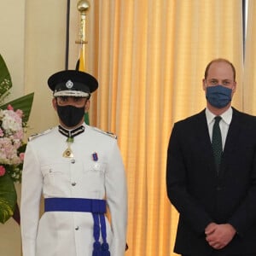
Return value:
[(200, 202), (189, 194), (187, 188), (186, 170), (188, 163), (187, 156), (183, 155), (183, 145), (181, 143), (180, 126), (174, 125), (167, 150), (166, 165), (166, 189), (169, 200), (180, 213), (180, 218), (200, 236), (207, 224), (212, 222), (212, 218), (201, 206)]

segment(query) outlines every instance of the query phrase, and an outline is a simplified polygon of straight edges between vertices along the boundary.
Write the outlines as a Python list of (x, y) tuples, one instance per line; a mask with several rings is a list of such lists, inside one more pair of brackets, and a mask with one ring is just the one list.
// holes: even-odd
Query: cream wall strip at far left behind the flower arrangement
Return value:
[[(0, 54), (9, 68), (13, 88), (6, 100), (13, 100), (24, 93), (25, 0), (0, 3)], [(20, 191), (20, 184), (17, 185)], [(0, 255), (20, 255), (20, 227), (11, 218), (0, 224)]]

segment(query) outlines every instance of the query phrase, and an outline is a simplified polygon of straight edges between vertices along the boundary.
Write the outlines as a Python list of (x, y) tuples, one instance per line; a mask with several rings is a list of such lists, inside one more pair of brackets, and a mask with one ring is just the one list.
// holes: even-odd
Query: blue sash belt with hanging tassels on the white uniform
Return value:
[[(105, 215), (106, 201), (87, 198), (45, 198), (44, 212), (91, 212), (93, 217), (93, 252), (92, 256), (110, 256)], [(102, 244), (99, 241), (102, 233)]]

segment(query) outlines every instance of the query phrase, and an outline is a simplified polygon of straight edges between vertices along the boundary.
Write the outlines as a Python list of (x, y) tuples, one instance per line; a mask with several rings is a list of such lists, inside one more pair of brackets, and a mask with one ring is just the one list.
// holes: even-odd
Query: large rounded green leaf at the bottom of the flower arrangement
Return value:
[(15, 185), (7, 173), (0, 177), (0, 222), (5, 223), (15, 212), (17, 194)]

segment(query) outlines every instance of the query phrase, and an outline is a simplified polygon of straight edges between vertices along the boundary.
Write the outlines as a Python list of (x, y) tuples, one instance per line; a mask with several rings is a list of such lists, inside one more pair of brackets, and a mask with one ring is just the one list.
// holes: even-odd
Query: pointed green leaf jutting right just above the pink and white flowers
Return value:
[(27, 122), (30, 112), (31, 112), (33, 98), (34, 98), (34, 93), (32, 92), (31, 94), (22, 96), (18, 99), (15, 99), (12, 102), (5, 103), (0, 108), (5, 109), (10, 104), (15, 110), (21, 109), (24, 114), (22, 120), (23, 120), (23, 122)]

